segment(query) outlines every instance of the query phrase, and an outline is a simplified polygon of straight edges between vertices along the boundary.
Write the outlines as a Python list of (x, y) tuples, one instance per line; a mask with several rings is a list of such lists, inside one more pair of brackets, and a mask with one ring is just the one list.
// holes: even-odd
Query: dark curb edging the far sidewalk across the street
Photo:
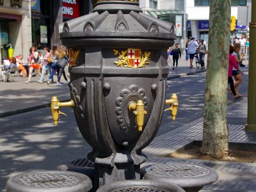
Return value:
[[(202, 73), (202, 72), (205, 72), (205, 71), (206, 71), (206, 69), (200, 69), (200, 70), (196, 70), (195, 72), (188, 72), (188, 73), (184, 73), (184, 74), (170, 76), (170, 77), (167, 77), (167, 80), (177, 79), (179, 77), (184, 77), (184, 76), (191, 76), (193, 74), (199, 74), (199, 73)], [(66, 102), (66, 101), (69, 101), (69, 99), (61, 100), (61, 102)], [(0, 113), (0, 118), (6, 117), (6, 116), (18, 115), (18, 114), (21, 114), (21, 113), (27, 113), (29, 111), (35, 111), (36, 109), (47, 108), (47, 107), (50, 107), (50, 106), (51, 106), (51, 103), (47, 103), (47, 104), (42, 104), (42, 105), (39, 105), (39, 106), (33, 106), (33, 107), (30, 107), (30, 108), (17, 109), (17, 110), (13, 110), (13, 111), (6, 111), (4, 113)]]

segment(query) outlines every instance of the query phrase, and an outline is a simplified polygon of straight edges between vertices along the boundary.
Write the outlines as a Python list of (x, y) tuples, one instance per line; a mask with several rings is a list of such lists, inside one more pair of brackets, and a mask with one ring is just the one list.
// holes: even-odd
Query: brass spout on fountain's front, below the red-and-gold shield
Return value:
[(138, 100), (137, 102), (132, 102), (128, 106), (129, 111), (132, 111), (134, 115), (136, 115), (136, 124), (138, 126), (138, 130), (142, 131), (142, 127), (144, 124), (144, 115), (147, 114), (147, 111), (144, 109), (144, 103), (142, 100)]

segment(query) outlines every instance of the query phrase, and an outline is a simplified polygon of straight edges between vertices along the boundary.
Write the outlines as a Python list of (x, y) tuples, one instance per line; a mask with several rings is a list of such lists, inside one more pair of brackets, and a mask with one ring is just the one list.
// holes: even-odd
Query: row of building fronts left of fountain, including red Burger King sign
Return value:
[[(84, 0), (0, 0), (0, 59), (8, 58), (12, 44), (13, 56), (29, 48), (60, 45), (59, 24), (89, 13), (90, 1)], [(9, 45), (9, 46), (7, 46)]]

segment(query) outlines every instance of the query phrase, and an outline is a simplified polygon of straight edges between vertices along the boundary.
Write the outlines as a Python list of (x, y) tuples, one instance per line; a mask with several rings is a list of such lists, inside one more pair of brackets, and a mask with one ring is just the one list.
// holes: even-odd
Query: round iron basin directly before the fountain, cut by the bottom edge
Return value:
[(156, 191), (156, 192), (185, 192), (184, 189), (176, 186), (175, 184), (169, 184), (167, 182), (159, 182), (157, 180), (120, 180), (111, 182), (101, 186), (97, 192), (142, 192), (142, 191)]

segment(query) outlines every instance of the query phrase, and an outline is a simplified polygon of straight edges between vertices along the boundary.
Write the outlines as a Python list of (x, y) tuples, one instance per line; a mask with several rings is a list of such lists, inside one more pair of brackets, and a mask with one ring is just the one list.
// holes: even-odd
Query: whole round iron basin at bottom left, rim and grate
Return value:
[(80, 192), (90, 191), (92, 180), (81, 173), (35, 171), (15, 175), (6, 183), (7, 192)]

